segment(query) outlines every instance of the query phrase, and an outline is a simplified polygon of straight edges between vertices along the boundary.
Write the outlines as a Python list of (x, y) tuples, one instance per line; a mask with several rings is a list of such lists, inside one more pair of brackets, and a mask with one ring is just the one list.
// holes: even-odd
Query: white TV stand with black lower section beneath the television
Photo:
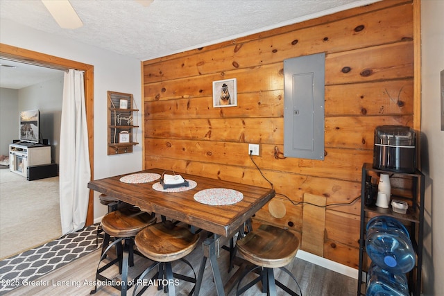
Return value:
[(40, 143), (10, 144), (9, 169), (29, 181), (58, 175), (57, 164), (51, 164), (51, 146)]

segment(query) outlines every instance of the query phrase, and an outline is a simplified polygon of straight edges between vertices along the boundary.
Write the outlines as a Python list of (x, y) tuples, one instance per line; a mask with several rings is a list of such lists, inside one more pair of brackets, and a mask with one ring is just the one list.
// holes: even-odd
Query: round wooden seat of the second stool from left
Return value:
[(102, 218), (103, 231), (110, 236), (136, 236), (145, 227), (155, 223), (155, 218), (144, 211), (135, 208), (119, 209), (106, 214)]

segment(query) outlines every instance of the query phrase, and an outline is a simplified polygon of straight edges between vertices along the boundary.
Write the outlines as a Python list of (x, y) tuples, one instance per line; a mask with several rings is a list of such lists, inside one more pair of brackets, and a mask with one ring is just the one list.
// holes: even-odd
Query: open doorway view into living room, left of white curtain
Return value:
[[(0, 259), (4, 259), (62, 235), (58, 176), (42, 179), (34, 173), (28, 176), (33, 180), (30, 182), (27, 167), (60, 163), (64, 71), (3, 59), (0, 62), (0, 149), (6, 162), (0, 166)], [(19, 119), (31, 115), (36, 119), (29, 125), (37, 143), (22, 143), (26, 134), (20, 132)]]

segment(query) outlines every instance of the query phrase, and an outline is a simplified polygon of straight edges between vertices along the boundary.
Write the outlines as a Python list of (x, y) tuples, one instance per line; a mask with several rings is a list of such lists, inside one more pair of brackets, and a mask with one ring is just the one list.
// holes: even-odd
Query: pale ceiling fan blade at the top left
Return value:
[(61, 28), (75, 29), (83, 26), (82, 20), (68, 0), (42, 0), (42, 3)]

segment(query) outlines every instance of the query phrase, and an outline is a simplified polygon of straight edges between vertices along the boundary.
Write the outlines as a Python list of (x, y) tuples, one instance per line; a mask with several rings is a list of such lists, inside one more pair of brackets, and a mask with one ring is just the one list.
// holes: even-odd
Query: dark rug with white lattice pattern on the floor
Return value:
[(90, 225), (56, 241), (0, 261), (0, 294), (3, 295), (96, 250), (103, 240), (99, 236), (96, 244), (97, 227), (98, 224)]

